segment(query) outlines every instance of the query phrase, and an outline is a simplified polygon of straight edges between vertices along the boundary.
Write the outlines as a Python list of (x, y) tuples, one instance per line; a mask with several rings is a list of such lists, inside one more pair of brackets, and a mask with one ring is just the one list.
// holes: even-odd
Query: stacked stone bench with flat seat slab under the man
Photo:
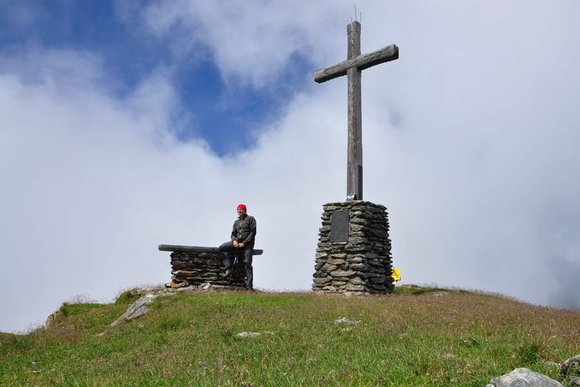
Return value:
[[(244, 270), (235, 268), (231, 278), (224, 277), (222, 257), (217, 247), (159, 245), (160, 251), (171, 251), (171, 285), (184, 287), (209, 283), (218, 286), (244, 287)], [(253, 255), (263, 250), (254, 249)]]

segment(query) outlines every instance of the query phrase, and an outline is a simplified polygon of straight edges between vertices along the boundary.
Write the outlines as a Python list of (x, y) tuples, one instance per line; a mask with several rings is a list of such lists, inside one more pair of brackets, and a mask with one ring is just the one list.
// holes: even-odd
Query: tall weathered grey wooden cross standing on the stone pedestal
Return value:
[(360, 23), (347, 26), (348, 54), (345, 61), (314, 72), (317, 83), (347, 75), (348, 78), (348, 156), (347, 199), (362, 200), (362, 113), (361, 72), (364, 69), (399, 58), (399, 47), (394, 44), (369, 54), (360, 54)]

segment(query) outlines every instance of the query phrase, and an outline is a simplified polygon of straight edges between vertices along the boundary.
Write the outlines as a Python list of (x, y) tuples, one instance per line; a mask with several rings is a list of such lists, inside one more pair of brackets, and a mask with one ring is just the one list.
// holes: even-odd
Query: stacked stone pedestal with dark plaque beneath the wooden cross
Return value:
[[(323, 208), (312, 290), (391, 292), (394, 284), (386, 208), (366, 201), (328, 203)], [(343, 221), (336, 221), (341, 217)]]

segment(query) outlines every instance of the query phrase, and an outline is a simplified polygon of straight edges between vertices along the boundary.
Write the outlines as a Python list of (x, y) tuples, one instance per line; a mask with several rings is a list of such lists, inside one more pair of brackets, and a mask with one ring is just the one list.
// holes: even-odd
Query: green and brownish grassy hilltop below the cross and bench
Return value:
[(558, 379), (580, 354), (580, 312), (464, 291), (177, 294), (109, 327), (133, 297), (0, 335), (0, 385), (483, 386), (517, 367)]

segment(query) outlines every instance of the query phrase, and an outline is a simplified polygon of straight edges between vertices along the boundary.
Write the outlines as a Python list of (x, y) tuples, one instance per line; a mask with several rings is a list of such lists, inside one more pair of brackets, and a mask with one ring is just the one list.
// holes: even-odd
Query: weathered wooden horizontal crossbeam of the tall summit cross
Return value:
[(359, 70), (367, 69), (379, 63), (399, 59), (399, 47), (395, 44), (383, 47), (380, 50), (359, 55), (354, 59), (345, 60), (334, 66), (318, 69), (314, 72), (314, 81), (322, 83), (346, 75), (346, 71), (356, 67)]

